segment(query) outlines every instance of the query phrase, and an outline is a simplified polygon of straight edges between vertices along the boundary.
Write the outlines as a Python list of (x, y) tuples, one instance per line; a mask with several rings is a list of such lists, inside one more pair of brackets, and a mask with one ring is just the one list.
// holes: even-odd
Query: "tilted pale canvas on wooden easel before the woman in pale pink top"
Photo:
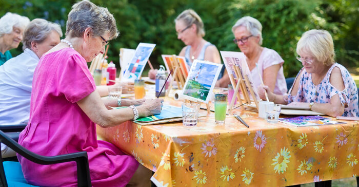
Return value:
[[(233, 52), (233, 51), (221, 51), (221, 56), (222, 56), (225, 66), (226, 66), (226, 70), (227, 70), (228, 74), (232, 74), (233, 78), (237, 79), (235, 76), (235, 73), (234, 73), (233, 66), (238, 66), (240, 68), (242, 75), (246, 75), (248, 77), (249, 84), (251, 85), (253, 92), (254, 92), (254, 97), (258, 101), (261, 100), (258, 95), (257, 88), (253, 85), (253, 81), (251, 79), (251, 71), (249, 70), (249, 67), (248, 67), (248, 64), (246, 61), (246, 56), (244, 55), (244, 53), (243, 52)], [(233, 80), (233, 78), (231, 76), (229, 76), (229, 78), (230, 78), (231, 84), (234, 85), (235, 80)], [(248, 94), (251, 96), (247, 84), (246, 84), (246, 87), (247, 87)], [(253, 96), (251, 96), (251, 97), (253, 98)]]

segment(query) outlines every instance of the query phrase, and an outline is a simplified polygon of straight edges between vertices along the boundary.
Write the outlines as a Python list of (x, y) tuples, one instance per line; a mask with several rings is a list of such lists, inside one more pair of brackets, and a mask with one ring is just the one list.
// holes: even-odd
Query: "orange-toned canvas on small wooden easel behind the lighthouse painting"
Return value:
[(174, 54), (162, 54), (162, 59), (165, 62), (167, 71), (173, 71), (168, 90), (172, 89), (173, 82), (177, 83), (178, 89), (183, 89), (188, 76), (188, 66), (185, 58)]

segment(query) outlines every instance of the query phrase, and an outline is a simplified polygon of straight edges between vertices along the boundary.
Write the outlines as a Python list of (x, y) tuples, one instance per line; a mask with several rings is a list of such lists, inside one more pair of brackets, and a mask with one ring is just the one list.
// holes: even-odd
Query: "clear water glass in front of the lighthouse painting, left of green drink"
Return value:
[(200, 104), (198, 103), (183, 103), (182, 104), (182, 121), (185, 126), (197, 125), (198, 111), (200, 111)]

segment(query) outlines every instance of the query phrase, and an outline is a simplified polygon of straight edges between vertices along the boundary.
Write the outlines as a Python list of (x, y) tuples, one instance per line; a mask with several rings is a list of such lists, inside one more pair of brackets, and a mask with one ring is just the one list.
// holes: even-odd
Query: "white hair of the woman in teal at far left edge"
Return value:
[(19, 27), (24, 30), (29, 22), (30, 20), (26, 16), (7, 12), (3, 17), (0, 18), (0, 37), (4, 34), (11, 33), (13, 27)]

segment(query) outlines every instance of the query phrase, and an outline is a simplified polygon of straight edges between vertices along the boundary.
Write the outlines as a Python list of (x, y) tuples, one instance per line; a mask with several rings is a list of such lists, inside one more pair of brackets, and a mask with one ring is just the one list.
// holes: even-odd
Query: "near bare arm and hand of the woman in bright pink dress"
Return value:
[[(145, 117), (161, 113), (162, 102), (163, 99), (146, 100), (144, 104), (136, 106), (138, 116)], [(131, 108), (108, 110), (97, 91), (79, 100), (77, 104), (94, 123), (101, 127), (116, 126), (134, 117)]]

